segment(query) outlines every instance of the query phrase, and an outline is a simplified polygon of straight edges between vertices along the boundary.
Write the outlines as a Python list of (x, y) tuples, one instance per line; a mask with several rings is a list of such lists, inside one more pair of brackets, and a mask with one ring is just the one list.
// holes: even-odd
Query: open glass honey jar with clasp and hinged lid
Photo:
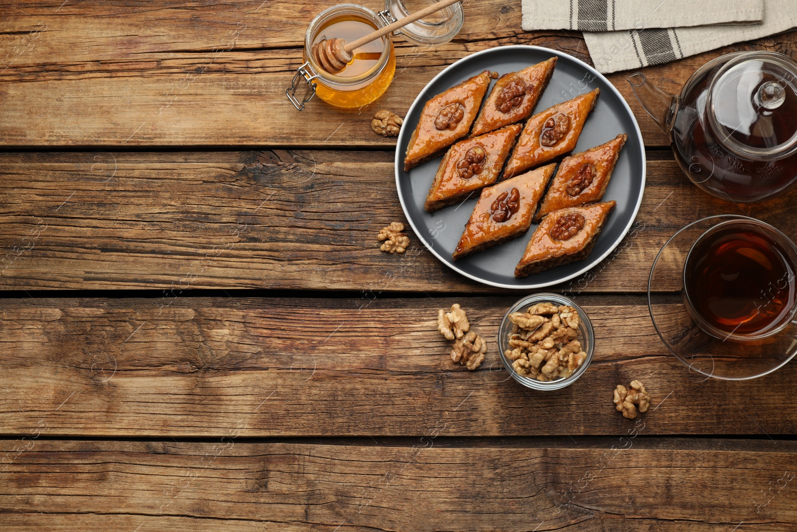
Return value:
[[(356, 4), (339, 4), (322, 11), (312, 19), (304, 35), (304, 64), (296, 74), (285, 96), (298, 109), (318, 96), (336, 107), (360, 107), (382, 96), (391, 85), (396, 69), (396, 54), (391, 35), (360, 46), (352, 52), (353, 60), (339, 73), (328, 73), (312, 54), (312, 46), (324, 39), (344, 38), (348, 42), (379, 30), (405, 17), (410, 12), (430, 5), (430, 0), (386, 0), (379, 13)], [(417, 5), (414, 5), (417, 4)], [(410, 11), (410, 9), (412, 11)], [(395, 16), (394, 16), (395, 14)], [(464, 20), (459, 3), (438, 11), (392, 33), (402, 35), (412, 45), (434, 47), (450, 41), (462, 27)], [(304, 78), (306, 93), (296, 97), (296, 90)]]

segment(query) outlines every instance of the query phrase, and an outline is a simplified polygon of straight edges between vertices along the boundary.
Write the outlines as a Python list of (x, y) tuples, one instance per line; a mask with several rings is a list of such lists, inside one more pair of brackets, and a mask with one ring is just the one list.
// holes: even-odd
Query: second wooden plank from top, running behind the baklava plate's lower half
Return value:
[[(453, 273), (414, 234), (404, 255), (379, 250), (379, 230), (404, 220), (391, 158), (318, 151), (0, 154), (0, 287), (500, 292)], [(672, 160), (650, 160), (647, 183), (634, 231), (567, 290), (644, 291), (650, 264), (678, 228), (743, 212), (697, 191)], [(788, 215), (794, 197), (744, 212), (797, 238)]]

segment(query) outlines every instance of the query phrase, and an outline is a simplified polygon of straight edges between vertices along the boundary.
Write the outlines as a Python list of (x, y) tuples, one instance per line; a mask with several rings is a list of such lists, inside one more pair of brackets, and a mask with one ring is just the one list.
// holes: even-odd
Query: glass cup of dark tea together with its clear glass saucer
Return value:
[(786, 234), (748, 216), (709, 216), (673, 234), (654, 259), (650, 317), (696, 382), (768, 375), (797, 355), (795, 275), (797, 246)]

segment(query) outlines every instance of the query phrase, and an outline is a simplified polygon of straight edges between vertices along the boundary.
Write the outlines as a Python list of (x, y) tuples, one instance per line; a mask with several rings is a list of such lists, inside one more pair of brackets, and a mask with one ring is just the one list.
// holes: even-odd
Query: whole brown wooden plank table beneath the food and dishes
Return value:
[[(646, 139), (642, 209), (617, 253), (556, 288), (595, 325), (587, 373), (521, 388), (496, 342), (520, 294), (453, 274), (414, 234), (379, 251), (403, 215), (395, 139), (368, 124), (469, 53), (589, 61), (583, 40), (521, 32), (519, 0), (468, 2), (435, 53), (397, 41), (375, 104), (296, 112), (284, 90), (331, 3), (3, 0), (0, 528), (797, 530), (797, 365), (702, 382), (645, 296), (677, 228), (741, 210), (797, 238), (797, 195), (697, 191), (611, 75)], [(795, 44), (644, 72), (676, 91), (720, 53)], [(489, 341), (474, 372), (435, 327), (453, 302)], [(654, 406), (630, 421), (611, 400), (633, 378)]]

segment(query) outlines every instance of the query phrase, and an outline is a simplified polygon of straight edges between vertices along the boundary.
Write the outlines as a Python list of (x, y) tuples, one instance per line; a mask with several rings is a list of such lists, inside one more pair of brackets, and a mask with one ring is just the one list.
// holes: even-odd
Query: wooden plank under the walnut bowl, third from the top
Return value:
[[(677, 296), (673, 296), (676, 298)], [(795, 434), (797, 365), (729, 383), (690, 373), (644, 298), (580, 296), (595, 358), (559, 392), (501, 367), (497, 328), (516, 298), (32, 299), (0, 302), (0, 427), (14, 435), (610, 435), (633, 422), (615, 384), (642, 380), (646, 434)], [(488, 341), (450, 361), (437, 309), (460, 302)]]

